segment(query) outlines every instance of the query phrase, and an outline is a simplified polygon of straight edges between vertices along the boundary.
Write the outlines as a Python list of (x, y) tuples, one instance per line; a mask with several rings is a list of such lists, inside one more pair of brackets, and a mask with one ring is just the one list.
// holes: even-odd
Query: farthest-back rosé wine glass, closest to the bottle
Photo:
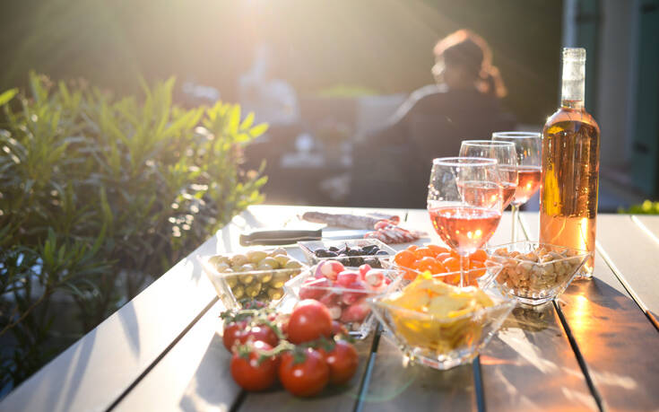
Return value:
[(541, 136), (540, 133), (535, 132), (492, 133), (493, 141), (514, 143), (517, 153), (517, 188), (515, 197), (510, 202), (510, 210), (513, 214), (513, 241), (517, 241), (519, 206), (524, 205), (540, 188)]

